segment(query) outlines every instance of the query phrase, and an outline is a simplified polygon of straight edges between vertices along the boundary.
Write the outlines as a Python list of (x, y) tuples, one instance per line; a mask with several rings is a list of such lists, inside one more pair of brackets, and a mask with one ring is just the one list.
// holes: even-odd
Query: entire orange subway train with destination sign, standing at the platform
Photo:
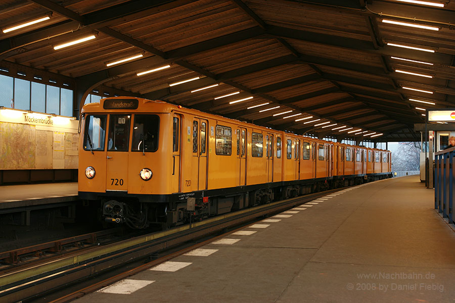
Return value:
[(79, 197), (104, 222), (166, 228), (391, 177), (390, 151), (272, 130), (161, 101), (82, 108)]

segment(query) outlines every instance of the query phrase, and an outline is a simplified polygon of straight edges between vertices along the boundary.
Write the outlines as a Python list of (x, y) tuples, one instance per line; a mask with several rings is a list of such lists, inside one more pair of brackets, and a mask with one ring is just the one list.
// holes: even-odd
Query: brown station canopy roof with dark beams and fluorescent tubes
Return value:
[(381, 141), (420, 140), (425, 110), (455, 105), (449, 0), (4, 0), (0, 20), (0, 68), (66, 81), (79, 100)]

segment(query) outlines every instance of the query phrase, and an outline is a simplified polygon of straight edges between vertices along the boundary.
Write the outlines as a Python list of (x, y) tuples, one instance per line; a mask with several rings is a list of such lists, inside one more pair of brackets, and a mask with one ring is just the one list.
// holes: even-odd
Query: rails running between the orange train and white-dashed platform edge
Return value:
[[(270, 216), (295, 206), (304, 204), (317, 197), (340, 189), (312, 193), (274, 203), (261, 205), (213, 218), (201, 222), (178, 226), (170, 230), (140, 235), (114, 243), (96, 245), (71, 253), (62, 253), (53, 258), (30, 262), (26, 266), (0, 271), (0, 303), (27, 301), (38, 296), (43, 290), (53, 291), (76, 281), (84, 280), (118, 268), (121, 265), (156, 255), (160, 251), (183, 245), (189, 241), (215, 235), (196, 245), (180, 249), (170, 255), (142, 264), (123, 273), (109, 277), (71, 294), (63, 295), (53, 303), (68, 302), (85, 293), (95, 291), (111, 283), (124, 279), (137, 272), (146, 270), (179, 254), (211, 242), (225, 229), (236, 228), (257, 218)], [(48, 245), (49, 246), (49, 245)]]

